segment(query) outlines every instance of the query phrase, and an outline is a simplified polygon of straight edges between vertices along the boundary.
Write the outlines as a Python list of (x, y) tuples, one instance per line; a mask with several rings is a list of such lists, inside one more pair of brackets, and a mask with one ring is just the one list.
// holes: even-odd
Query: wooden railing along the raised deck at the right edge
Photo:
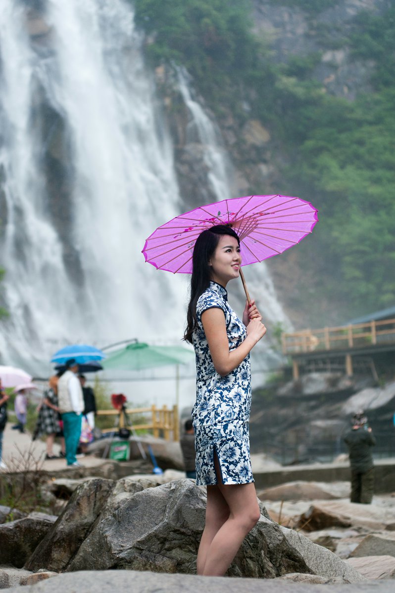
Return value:
[(395, 343), (395, 319), (282, 334), (285, 355)]

